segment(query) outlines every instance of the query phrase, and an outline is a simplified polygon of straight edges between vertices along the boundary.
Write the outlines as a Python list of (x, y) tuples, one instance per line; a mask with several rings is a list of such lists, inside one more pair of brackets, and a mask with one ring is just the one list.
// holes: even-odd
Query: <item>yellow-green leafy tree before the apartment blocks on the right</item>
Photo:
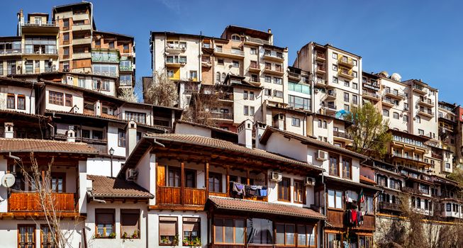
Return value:
[(391, 133), (388, 132), (389, 121), (383, 120), (383, 115), (372, 103), (352, 108), (345, 120), (352, 123), (347, 129), (347, 133), (354, 140), (352, 150), (369, 156), (384, 157), (387, 152), (386, 145), (392, 139)]

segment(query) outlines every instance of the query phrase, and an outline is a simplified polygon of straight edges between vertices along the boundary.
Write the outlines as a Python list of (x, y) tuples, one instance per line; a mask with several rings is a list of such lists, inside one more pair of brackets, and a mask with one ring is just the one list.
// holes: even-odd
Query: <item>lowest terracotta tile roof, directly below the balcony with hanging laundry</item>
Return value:
[(299, 218), (310, 218), (325, 220), (325, 215), (310, 208), (301, 208), (296, 205), (267, 203), (264, 201), (251, 201), (220, 196), (209, 196), (208, 201), (214, 208), (222, 210), (238, 210), (255, 213), (268, 213), (272, 215), (294, 216)]

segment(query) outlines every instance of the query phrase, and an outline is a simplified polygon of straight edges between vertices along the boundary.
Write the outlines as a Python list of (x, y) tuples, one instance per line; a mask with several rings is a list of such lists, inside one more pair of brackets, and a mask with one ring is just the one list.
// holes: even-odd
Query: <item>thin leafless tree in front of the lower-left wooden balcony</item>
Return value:
[[(50, 184), (50, 172), (54, 160), (54, 157), (52, 157), (47, 165), (40, 165), (37, 159), (35, 159), (34, 153), (31, 152), (30, 165), (28, 164), (28, 167), (24, 166), (22, 160), (20, 162), (15, 160), (15, 164), (21, 169), (26, 183), (36, 188), (36, 203), (40, 206), (40, 210), (43, 211), (43, 218), (50, 230), (50, 243), (55, 245), (55, 247), (72, 247), (71, 239), (73, 232), (62, 228), (62, 216), (60, 210), (57, 208), (56, 194), (53, 193), (54, 191)], [(74, 226), (77, 226), (78, 222), (79, 219), (76, 218)]]

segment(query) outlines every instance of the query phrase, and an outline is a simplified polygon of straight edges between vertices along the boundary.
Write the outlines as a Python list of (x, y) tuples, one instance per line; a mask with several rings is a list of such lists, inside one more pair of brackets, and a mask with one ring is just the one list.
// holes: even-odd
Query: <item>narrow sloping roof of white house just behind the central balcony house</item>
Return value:
[(347, 149), (342, 148), (342, 147), (337, 147), (335, 145), (331, 145), (328, 142), (323, 142), (323, 141), (320, 141), (320, 140), (316, 140), (316, 139), (314, 139), (312, 137), (306, 137), (306, 136), (303, 136), (303, 135), (298, 135), (296, 133), (291, 133), (291, 132), (279, 130), (277, 128), (272, 128), (270, 126), (267, 126), (267, 128), (265, 129), (264, 134), (262, 134), (262, 137), (260, 138), (260, 142), (262, 142), (264, 144), (267, 143), (267, 140), (269, 139), (270, 135), (272, 135), (272, 133), (281, 133), (282, 135), (287, 135), (289, 137), (294, 137), (296, 140), (301, 140), (303, 142), (307, 142), (310, 145), (316, 145), (318, 147), (323, 147), (322, 149), (328, 149), (328, 150), (332, 150), (332, 151), (335, 151), (335, 152), (342, 152), (344, 154), (349, 154), (349, 155), (351, 155), (353, 157), (358, 157), (358, 158), (361, 158), (361, 159), (367, 159), (368, 158), (367, 156), (365, 156), (363, 154), (359, 154), (357, 152), (352, 152), (351, 150), (347, 150)]

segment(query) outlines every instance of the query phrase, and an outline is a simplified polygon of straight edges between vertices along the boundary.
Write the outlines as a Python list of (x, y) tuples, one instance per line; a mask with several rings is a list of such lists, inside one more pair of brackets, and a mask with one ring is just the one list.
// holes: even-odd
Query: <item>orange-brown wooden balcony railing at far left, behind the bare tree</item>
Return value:
[[(74, 193), (53, 193), (53, 205), (58, 212), (74, 212)], [(9, 212), (43, 212), (38, 193), (11, 193)]]

